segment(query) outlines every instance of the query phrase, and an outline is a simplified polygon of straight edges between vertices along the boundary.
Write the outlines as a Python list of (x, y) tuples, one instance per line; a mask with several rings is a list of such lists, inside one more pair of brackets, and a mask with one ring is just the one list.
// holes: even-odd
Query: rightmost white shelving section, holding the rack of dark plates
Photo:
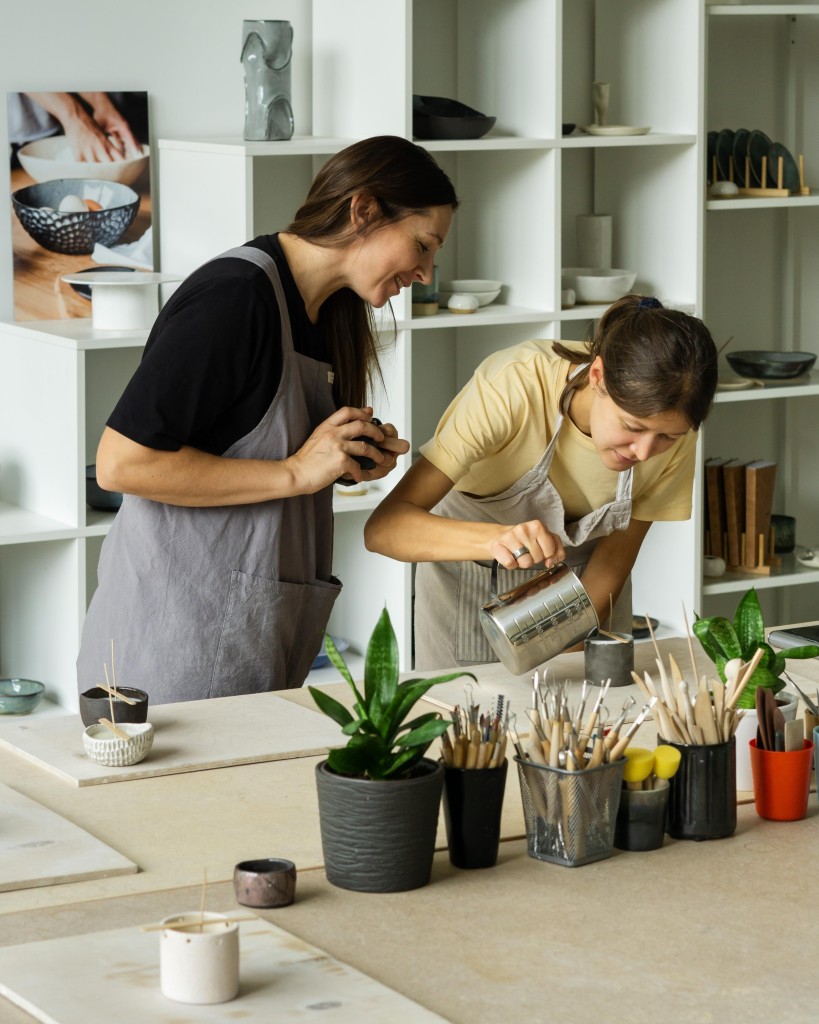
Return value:
[[(707, 200), (704, 315), (718, 344), (819, 351), (819, 137), (815, 130), (819, 4), (722, 4), (705, 8), (706, 130), (762, 129), (798, 158), (810, 196)], [(731, 373), (729, 367), (725, 368)], [(704, 456), (777, 463), (774, 511), (796, 517), (796, 541), (819, 543), (819, 459), (814, 445), (819, 374), (793, 384), (722, 392), (704, 430)], [(760, 591), (768, 622), (819, 613), (819, 572), (782, 556), (770, 575), (704, 580), (703, 614), (730, 614), (741, 593)]]

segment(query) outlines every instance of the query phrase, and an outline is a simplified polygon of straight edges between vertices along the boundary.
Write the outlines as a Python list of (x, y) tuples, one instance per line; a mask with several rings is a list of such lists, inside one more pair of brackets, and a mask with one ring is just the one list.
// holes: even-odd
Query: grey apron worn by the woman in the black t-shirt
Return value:
[[(273, 260), (251, 246), (216, 258), (224, 257), (266, 272), (283, 350), (270, 408), (224, 455), (279, 461), (334, 412), (331, 367), (294, 350)], [(341, 590), (332, 565), (332, 486), (213, 508), (126, 495), (83, 627), (80, 690), (104, 681), (112, 639), (118, 682), (146, 690), (152, 703), (301, 686)]]

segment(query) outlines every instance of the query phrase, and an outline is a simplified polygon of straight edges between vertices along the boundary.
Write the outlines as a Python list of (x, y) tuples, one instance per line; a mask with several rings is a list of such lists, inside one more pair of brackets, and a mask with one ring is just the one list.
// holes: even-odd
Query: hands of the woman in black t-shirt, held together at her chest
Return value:
[[(379, 473), (379, 470), (392, 468), (396, 455), (380, 450), (379, 445), (387, 438), (387, 434), (372, 419), (373, 410), (369, 407), (354, 409), (345, 406), (324, 423), (319, 423), (299, 451), (285, 460), (294, 477), (294, 493), (314, 494), (340, 476), (349, 477), (357, 483), (372, 479), (372, 475)], [(361, 436), (371, 440), (355, 440)], [(399, 438), (391, 438), (388, 443), (394, 450), (405, 445), (404, 451), (408, 451), (406, 441), (396, 445), (396, 440)], [(377, 469), (362, 469), (353, 456), (367, 456), (373, 460)], [(379, 475), (383, 476), (384, 473)]]

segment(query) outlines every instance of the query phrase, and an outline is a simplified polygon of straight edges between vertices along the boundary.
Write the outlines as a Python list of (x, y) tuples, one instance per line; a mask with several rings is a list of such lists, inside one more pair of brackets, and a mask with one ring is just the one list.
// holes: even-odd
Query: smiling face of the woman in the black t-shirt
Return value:
[(349, 287), (379, 308), (415, 281), (429, 284), (451, 222), (451, 207), (433, 206), (375, 227), (355, 243)]

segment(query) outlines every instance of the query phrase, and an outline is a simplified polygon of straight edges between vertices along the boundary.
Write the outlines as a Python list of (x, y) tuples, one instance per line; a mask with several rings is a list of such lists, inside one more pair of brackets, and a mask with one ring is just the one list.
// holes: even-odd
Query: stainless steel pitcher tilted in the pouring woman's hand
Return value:
[(558, 562), (498, 593), (498, 562), (492, 563), (491, 600), (480, 611), (480, 625), (502, 665), (522, 676), (598, 627), (597, 612), (583, 584), (565, 562)]

